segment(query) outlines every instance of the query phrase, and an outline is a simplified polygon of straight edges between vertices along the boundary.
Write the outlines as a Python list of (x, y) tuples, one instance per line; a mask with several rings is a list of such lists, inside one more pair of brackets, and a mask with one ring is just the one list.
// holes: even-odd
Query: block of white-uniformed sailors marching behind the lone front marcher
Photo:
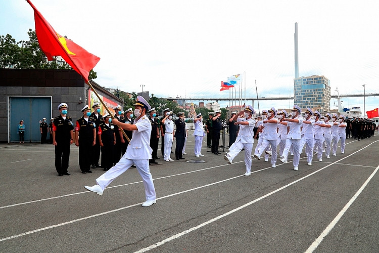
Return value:
[[(259, 139), (254, 151), (254, 157), (260, 159), (265, 154), (265, 161), (271, 155), (272, 167), (275, 167), (277, 147), (279, 147), (280, 161), (287, 163), (288, 155), (294, 155), (294, 170), (298, 170), (300, 153), (305, 146), (308, 165), (312, 165), (313, 149), (317, 152), (317, 159), (322, 161), (323, 143), (326, 143), (325, 157), (337, 155), (338, 142), (341, 140), (341, 153), (345, 153), (346, 126), (345, 116), (326, 113), (322, 116), (317, 110), (307, 108), (304, 117), (301, 109), (295, 105), (292, 113), (286, 110), (276, 111), (275, 108), (263, 110), (263, 120), (258, 123)], [(333, 147), (331, 141), (333, 140)]]

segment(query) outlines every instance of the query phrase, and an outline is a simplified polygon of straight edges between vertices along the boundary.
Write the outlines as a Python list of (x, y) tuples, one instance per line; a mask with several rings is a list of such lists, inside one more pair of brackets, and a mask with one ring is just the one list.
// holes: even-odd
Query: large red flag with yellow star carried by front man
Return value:
[(85, 49), (73, 43), (70, 39), (62, 37), (46, 21), (34, 5), (26, 0), (34, 10), (35, 32), (39, 47), (48, 57), (61, 56), (76, 72), (88, 82), (89, 71), (99, 62), (100, 58), (88, 53)]

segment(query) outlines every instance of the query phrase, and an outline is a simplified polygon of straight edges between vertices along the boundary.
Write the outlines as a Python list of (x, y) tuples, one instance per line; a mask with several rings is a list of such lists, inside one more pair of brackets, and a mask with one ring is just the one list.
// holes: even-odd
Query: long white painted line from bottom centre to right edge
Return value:
[[(377, 141), (375, 141), (375, 142), (377, 142)], [(295, 180), (295, 181), (293, 181), (293, 182), (291, 182), (291, 183), (289, 183), (289, 184), (287, 184), (287, 185), (285, 185), (285, 186), (282, 186), (282, 187), (280, 187), (280, 188), (278, 188), (278, 189), (276, 189), (276, 190), (274, 190), (274, 191), (272, 191), (272, 192), (270, 192), (270, 193), (267, 193), (266, 195), (263, 195), (262, 197), (259, 197), (259, 198), (257, 198), (257, 199), (254, 199), (253, 201), (251, 201), (251, 202), (249, 202), (249, 203), (246, 203), (246, 204), (244, 204), (244, 205), (241, 205), (241, 206), (239, 206), (239, 207), (237, 207), (237, 208), (235, 208), (235, 209), (233, 209), (233, 210), (230, 210), (229, 212), (227, 212), (227, 213), (225, 213), (225, 214), (223, 214), (223, 215), (217, 216), (217, 217), (215, 217), (215, 218), (213, 218), (213, 219), (211, 219), (211, 220), (209, 220), (209, 221), (206, 221), (206, 222), (204, 222), (204, 223), (202, 223), (202, 224), (200, 224), (200, 225), (198, 225), (198, 226), (192, 227), (192, 228), (187, 229), (187, 230), (185, 230), (185, 231), (183, 231), (183, 232), (181, 232), (181, 233), (175, 234), (175, 235), (173, 235), (173, 236), (171, 236), (171, 237), (168, 237), (168, 238), (166, 238), (166, 239), (164, 239), (164, 240), (162, 240), (162, 241), (159, 241), (159, 242), (157, 242), (157, 243), (155, 243), (155, 244), (152, 244), (152, 245), (150, 245), (150, 246), (148, 246), (148, 247), (146, 247), (146, 248), (142, 248), (142, 249), (140, 249), (140, 250), (138, 250), (138, 251), (135, 251), (134, 253), (146, 252), (146, 251), (148, 251), (148, 250), (150, 250), (150, 249), (153, 249), (153, 248), (156, 248), (156, 247), (158, 247), (158, 246), (160, 246), (160, 245), (162, 245), (162, 244), (165, 244), (166, 242), (172, 241), (172, 240), (177, 239), (177, 238), (179, 238), (179, 237), (181, 237), (181, 236), (183, 236), (183, 235), (185, 235), (185, 234), (188, 234), (188, 233), (190, 233), (190, 232), (192, 232), (192, 231), (195, 231), (195, 230), (197, 230), (197, 229), (199, 229), (199, 228), (201, 228), (201, 227), (204, 227), (204, 226), (206, 226), (206, 225), (208, 225), (208, 224), (210, 224), (210, 223), (212, 223), (212, 222), (215, 222), (215, 221), (217, 221), (217, 220), (219, 220), (219, 219), (221, 219), (221, 218), (224, 218), (224, 217), (226, 217), (226, 216), (228, 216), (228, 215), (230, 215), (230, 214), (233, 214), (233, 213), (237, 212), (238, 210), (241, 210), (242, 208), (245, 208), (245, 207), (247, 207), (247, 206), (249, 206), (249, 205), (251, 205), (251, 204), (254, 204), (254, 203), (258, 202), (259, 200), (264, 199), (264, 198), (266, 198), (266, 197), (268, 197), (268, 196), (270, 196), (270, 195), (272, 195), (272, 194), (274, 194), (274, 193), (276, 193), (276, 192), (278, 192), (278, 191), (281, 191), (281, 190), (283, 190), (283, 189), (286, 189), (287, 187), (289, 187), (289, 186), (291, 186), (291, 185), (293, 185), (293, 184), (296, 184), (297, 182), (302, 181), (302, 180), (304, 180), (304, 179), (306, 179), (306, 178), (308, 178), (308, 177), (310, 177), (310, 176), (312, 176), (312, 175), (314, 175), (314, 174), (316, 174), (316, 173), (318, 173), (318, 172), (324, 170), (325, 168), (327, 168), (327, 167), (329, 167), (329, 166), (331, 166), (331, 165), (333, 165), (333, 164), (336, 164), (336, 163), (338, 163), (338, 162), (341, 161), (341, 160), (344, 160), (344, 159), (348, 158), (349, 156), (352, 156), (353, 154), (355, 154), (355, 153), (357, 153), (357, 152), (359, 152), (359, 151), (361, 151), (361, 150), (367, 148), (368, 146), (370, 146), (371, 144), (373, 144), (373, 143), (375, 143), (375, 142), (372, 142), (372, 143), (370, 143), (369, 145), (367, 145), (367, 146), (361, 148), (360, 150), (357, 150), (357, 151), (355, 151), (354, 153), (352, 153), (352, 154), (350, 154), (350, 155), (348, 155), (348, 156), (346, 156), (346, 157), (344, 157), (344, 158), (342, 158), (342, 159), (340, 159), (340, 160), (338, 160), (338, 161), (335, 161), (335, 162), (333, 162), (333, 163), (330, 163), (330, 164), (328, 164), (328, 165), (326, 165), (326, 166), (320, 168), (319, 170), (317, 170), (317, 171), (315, 171), (315, 172), (313, 172), (313, 173), (311, 173), (311, 174), (308, 174), (308, 175), (305, 176), (305, 177), (302, 177), (302, 178), (300, 178), (300, 179), (298, 179), (298, 180)], [(378, 166), (378, 167), (379, 167), (379, 166)], [(376, 171), (377, 171), (377, 169), (375, 170), (375, 173), (376, 173)], [(373, 176), (373, 175), (371, 174), (370, 178), (371, 178), (372, 176)], [(370, 179), (370, 178), (369, 178), (369, 179)]]

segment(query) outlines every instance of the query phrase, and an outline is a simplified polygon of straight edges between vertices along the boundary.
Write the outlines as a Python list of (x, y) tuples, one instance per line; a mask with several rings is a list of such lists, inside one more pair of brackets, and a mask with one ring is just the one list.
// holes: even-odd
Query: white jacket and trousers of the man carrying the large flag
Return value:
[(125, 154), (116, 165), (96, 179), (96, 183), (104, 190), (113, 180), (128, 170), (131, 165), (137, 167), (145, 186), (146, 200), (155, 200), (153, 177), (150, 173), (149, 159), (152, 158), (150, 147), (151, 122), (147, 116), (134, 121), (137, 130), (133, 131)]

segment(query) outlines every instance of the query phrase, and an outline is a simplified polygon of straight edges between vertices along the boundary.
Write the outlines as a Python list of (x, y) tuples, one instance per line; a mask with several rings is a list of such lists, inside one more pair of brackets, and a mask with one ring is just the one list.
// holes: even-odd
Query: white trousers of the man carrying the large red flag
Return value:
[[(166, 139), (166, 138), (165, 138)], [(109, 171), (101, 175), (96, 179), (96, 183), (104, 190), (113, 180), (118, 176), (123, 174), (130, 168), (131, 165), (135, 164), (137, 171), (144, 182), (146, 200), (155, 200), (155, 188), (153, 183), (153, 177), (150, 173), (149, 159), (146, 160), (131, 160), (124, 156), (121, 157), (120, 161), (116, 165), (111, 167)]]

